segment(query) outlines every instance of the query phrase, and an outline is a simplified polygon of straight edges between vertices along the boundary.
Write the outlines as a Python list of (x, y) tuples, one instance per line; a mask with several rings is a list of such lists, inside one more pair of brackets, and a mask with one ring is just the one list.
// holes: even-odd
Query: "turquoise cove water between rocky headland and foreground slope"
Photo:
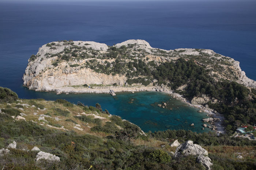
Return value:
[[(207, 132), (202, 130), (202, 118), (205, 113), (198, 113), (196, 108), (189, 107), (185, 103), (172, 98), (162, 92), (122, 92), (117, 96), (110, 94), (61, 94), (54, 92), (31, 92), (31, 98), (44, 98), (47, 100), (66, 99), (69, 102), (82, 102), (88, 106), (101, 104), (103, 110), (110, 114), (121, 116), (138, 125), (144, 132), (167, 129), (184, 129), (195, 132)], [(167, 108), (160, 108), (157, 104), (166, 102)], [(172, 108), (172, 110), (170, 110)], [(195, 126), (190, 126), (194, 123)]]

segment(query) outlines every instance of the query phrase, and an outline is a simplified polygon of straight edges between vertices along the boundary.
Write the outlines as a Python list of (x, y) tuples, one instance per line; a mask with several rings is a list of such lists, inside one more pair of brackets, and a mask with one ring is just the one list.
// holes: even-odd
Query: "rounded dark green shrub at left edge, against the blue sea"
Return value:
[(18, 95), (9, 88), (0, 87), (0, 102), (12, 103), (18, 99)]

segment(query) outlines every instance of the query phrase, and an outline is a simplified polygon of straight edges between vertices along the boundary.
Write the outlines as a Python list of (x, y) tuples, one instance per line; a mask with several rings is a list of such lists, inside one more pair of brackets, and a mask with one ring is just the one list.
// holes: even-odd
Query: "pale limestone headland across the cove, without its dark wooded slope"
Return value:
[[(124, 58), (120, 54), (114, 56), (116, 48), (126, 50)], [(109, 55), (113, 55), (114, 58), (106, 57)], [(120, 58), (120, 63), (140, 59), (145, 63), (154, 62), (157, 65), (178, 58), (192, 58), (198, 65), (210, 69), (210, 74), (217, 80), (234, 80), (247, 87), (256, 88), (256, 82), (246, 77), (239, 62), (229, 57), (204, 49), (161, 50), (151, 47), (144, 40), (127, 40), (113, 47), (93, 41), (60, 41), (45, 44), (29, 59), (23, 76), (24, 86), (36, 91), (55, 91), (57, 88), (83, 84), (117, 83), (123, 86), (128, 79), (127, 73), (132, 74), (136, 69), (129, 70), (125, 64), (115, 68), (116, 58)], [(102, 66), (108, 66), (108, 69), (102, 70)], [(122, 71), (120, 74), (112, 74), (113, 68)]]

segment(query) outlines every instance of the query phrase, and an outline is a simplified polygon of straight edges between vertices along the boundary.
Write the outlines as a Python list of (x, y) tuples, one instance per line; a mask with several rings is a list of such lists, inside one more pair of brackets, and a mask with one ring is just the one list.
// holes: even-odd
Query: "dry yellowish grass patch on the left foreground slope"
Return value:
[[(59, 124), (61, 126), (64, 126), (64, 129), (67, 129), (68, 131), (75, 131), (77, 134), (79, 135), (84, 135), (84, 134), (90, 134), (90, 135), (94, 135), (97, 137), (106, 137), (107, 134), (103, 133), (103, 132), (93, 132), (90, 130), (90, 127), (94, 127), (96, 124), (94, 123), (85, 123), (82, 122), (79, 119), (74, 118), (74, 116), (85, 112), (86, 114), (97, 114), (97, 112), (92, 112), (92, 111), (84, 111), (82, 107), (80, 106), (76, 106), (74, 105), (74, 107), (65, 107), (63, 106), (63, 104), (61, 103), (56, 103), (54, 101), (47, 101), (47, 100), (35, 100), (35, 99), (22, 99), (22, 102), (19, 102), (20, 104), (30, 104), (30, 101), (34, 101), (38, 104), (42, 104), (44, 105), (45, 108), (47, 108), (46, 110), (38, 110), (38, 108), (36, 107), (24, 107), (24, 111), (21, 111), (21, 113), (26, 114), (27, 116), (23, 116), (24, 118), (26, 118), (26, 121), (31, 121), (33, 120), (34, 122), (37, 122), (39, 124), (38, 118), (40, 114), (45, 114), (45, 115), (51, 115), (52, 118), (47, 118), (45, 117), (45, 120), (47, 120), (48, 122), (44, 121), (45, 124), (42, 125), (46, 128), (51, 128), (51, 127), (47, 127), (46, 124), (50, 124), (50, 125), (54, 125), (54, 124)], [(18, 103), (18, 102), (17, 102)], [(17, 103), (11, 103), (11, 107), (15, 107)], [(1, 104), (1, 108), (7, 108), (7, 103)], [(68, 110), (70, 112), (69, 116), (55, 116), (54, 113), (54, 108), (59, 108), (61, 110)], [(37, 113), (37, 115), (34, 115), (33, 113)], [(99, 116), (105, 117), (106, 120), (102, 120), (102, 124), (104, 125), (106, 122), (109, 121), (109, 117), (106, 114), (99, 114)], [(54, 117), (58, 117), (59, 121), (55, 120)], [(83, 130), (77, 130), (74, 128), (75, 124), (72, 122), (68, 122), (65, 121), (66, 119), (72, 119), (74, 120), (77, 124), (79, 124)], [(41, 120), (42, 121), (42, 120)], [(90, 127), (88, 127), (90, 126)], [(61, 130), (61, 131), (65, 131), (65, 130)]]

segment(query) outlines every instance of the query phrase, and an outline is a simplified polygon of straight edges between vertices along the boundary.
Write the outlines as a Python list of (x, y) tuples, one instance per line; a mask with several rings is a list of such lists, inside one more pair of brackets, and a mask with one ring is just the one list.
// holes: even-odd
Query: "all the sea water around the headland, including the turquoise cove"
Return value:
[[(238, 60), (256, 80), (256, 1), (138, 1), (4, 3), (0, 1), (0, 86), (20, 98), (67, 99), (99, 103), (144, 131), (190, 129), (202, 132), (204, 114), (157, 92), (55, 95), (23, 87), (30, 55), (57, 40), (97, 41), (113, 45), (144, 39), (152, 47), (207, 48)], [(129, 103), (134, 99), (133, 103)], [(173, 110), (157, 107), (169, 101)], [(195, 123), (195, 127), (189, 124)]]

